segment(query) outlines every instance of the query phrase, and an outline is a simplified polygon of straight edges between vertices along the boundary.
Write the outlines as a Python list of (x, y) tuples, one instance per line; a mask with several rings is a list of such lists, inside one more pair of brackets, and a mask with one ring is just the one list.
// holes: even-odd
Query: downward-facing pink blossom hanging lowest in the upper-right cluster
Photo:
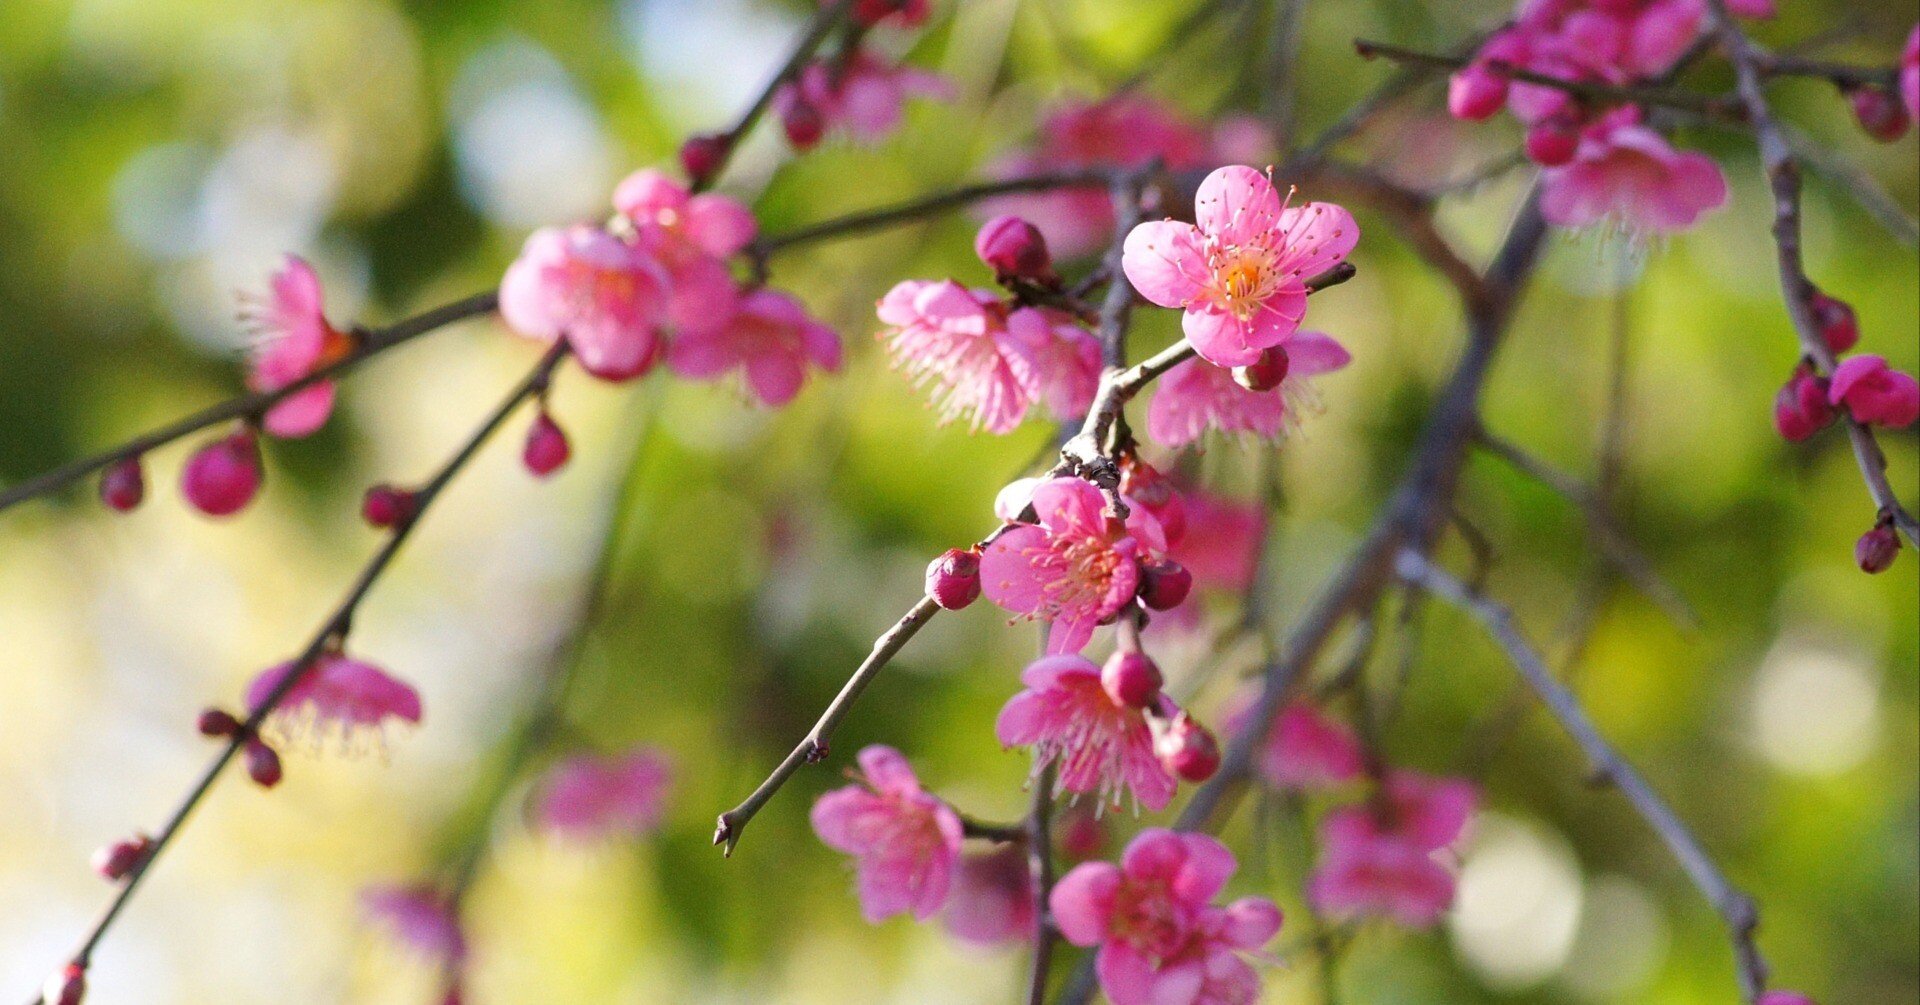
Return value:
[(1540, 213), (1559, 227), (1617, 221), (1632, 231), (1686, 231), (1726, 202), (1726, 177), (1713, 158), (1678, 152), (1622, 106), (1580, 135), (1571, 163), (1540, 175)]

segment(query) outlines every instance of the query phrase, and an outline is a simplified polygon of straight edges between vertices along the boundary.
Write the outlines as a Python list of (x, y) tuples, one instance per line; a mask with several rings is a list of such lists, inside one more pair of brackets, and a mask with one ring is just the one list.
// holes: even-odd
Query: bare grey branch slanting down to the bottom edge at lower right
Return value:
[(1680, 869), (1693, 880), (1693, 886), (1720, 913), (1734, 942), (1741, 993), (1749, 1003), (1759, 1001), (1761, 992), (1766, 990), (1766, 961), (1753, 942), (1753, 932), (1759, 926), (1759, 911), (1753, 899), (1726, 880), (1713, 863), (1713, 857), (1701, 847), (1699, 838), (1688, 830), (1672, 807), (1653, 792), (1653, 786), (1594, 728), (1594, 721), (1580, 707), (1580, 699), (1553, 676), (1553, 671), (1548, 669), (1540, 653), (1534, 651), (1532, 644), (1513, 625), (1513, 611), (1469, 590), (1463, 582), (1446, 575), (1413, 550), (1400, 553), (1398, 575), (1428, 594), (1465, 609), (1486, 626), (1486, 632), (1505, 650), (1507, 659), (1521, 671), (1521, 676), (1526, 678), (1526, 684), (1540, 696), (1540, 701), (1553, 713), (1553, 719), (1586, 751), (1596, 772), (1626, 796), (1640, 817), (1659, 834), (1667, 849), (1672, 851)]

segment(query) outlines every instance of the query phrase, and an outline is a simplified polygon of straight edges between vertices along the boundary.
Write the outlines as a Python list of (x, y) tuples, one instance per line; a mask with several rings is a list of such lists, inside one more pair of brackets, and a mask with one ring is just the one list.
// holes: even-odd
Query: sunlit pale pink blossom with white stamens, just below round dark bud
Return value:
[(1062, 419), (1092, 404), (1100, 344), (1058, 311), (1008, 311), (991, 292), (910, 279), (876, 313), (893, 365), (929, 388), (941, 423), (1012, 432), (1035, 404)]

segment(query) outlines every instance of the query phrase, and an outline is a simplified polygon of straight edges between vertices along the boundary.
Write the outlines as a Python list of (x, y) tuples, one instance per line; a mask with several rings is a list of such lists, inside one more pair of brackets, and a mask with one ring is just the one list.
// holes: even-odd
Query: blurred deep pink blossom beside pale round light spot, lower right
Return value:
[(1478, 799), (1471, 782), (1394, 772), (1386, 807), (1359, 803), (1321, 821), (1308, 897), (1336, 919), (1379, 915), (1409, 928), (1440, 920), (1453, 874), (1434, 853), (1459, 840)]

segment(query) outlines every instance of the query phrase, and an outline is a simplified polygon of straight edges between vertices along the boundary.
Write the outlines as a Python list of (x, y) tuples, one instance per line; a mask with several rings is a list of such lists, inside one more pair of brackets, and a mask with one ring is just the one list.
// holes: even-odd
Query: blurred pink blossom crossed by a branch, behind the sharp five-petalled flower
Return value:
[[(1171, 171), (1212, 159), (1208, 133), (1160, 102), (1123, 94), (1104, 102), (1069, 102), (1041, 123), (1041, 144), (1000, 163), (998, 175), (1033, 175), (1081, 167), (1139, 167), (1154, 158)], [(983, 204), (987, 215), (1014, 213), (1046, 234), (1056, 256), (1073, 257), (1106, 244), (1114, 200), (1106, 188), (1062, 188)]]

